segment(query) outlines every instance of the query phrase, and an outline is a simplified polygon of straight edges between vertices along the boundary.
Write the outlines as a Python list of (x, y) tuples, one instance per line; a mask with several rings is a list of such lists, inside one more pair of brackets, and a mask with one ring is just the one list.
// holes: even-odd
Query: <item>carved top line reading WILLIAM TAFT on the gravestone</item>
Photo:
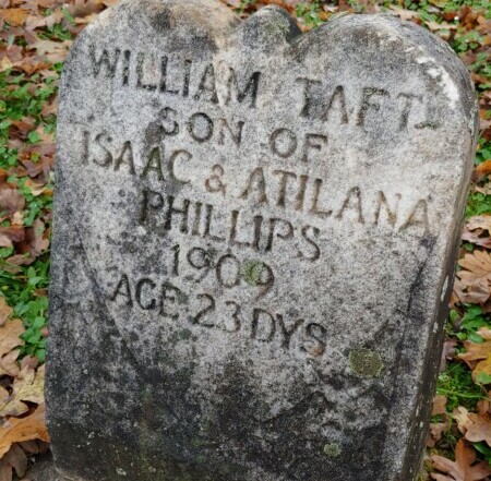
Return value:
[[(95, 45), (89, 48), (92, 75), (96, 79), (111, 79), (118, 86), (136, 88), (170, 97), (191, 98), (214, 105), (246, 105), (251, 109), (261, 104), (262, 86), (265, 83), (263, 72), (238, 73), (225, 62), (202, 64), (192, 59), (182, 59), (163, 55), (156, 57), (148, 52), (134, 52), (115, 48), (99, 50)], [(352, 124), (363, 130), (368, 118), (382, 117), (384, 110), (396, 110), (398, 121), (394, 130), (405, 133), (408, 129), (438, 129), (438, 122), (431, 119), (428, 99), (417, 92), (390, 92), (388, 89), (367, 85), (352, 98), (347, 98), (344, 85), (325, 85), (323, 82), (297, 77), (290, 86), (298, 92), (299, 116), (320, 119), (323, 122)], [(424, 118), (414, 118), (416, 107), (424, 106)], [(275, 135), (288, 136), (287, 129), (276, 131)], [(318, 148), (324, 136), (310, 144)], [(203, 139), (208, 140), (208, 139)], [(276, 137), (273, 136), (273, 144)], [(290, 139), (286, 151), (277, 149), (278, 155), (288, 157), (297, 147)], [(290, 152), (291, 149), (291, 152)]]

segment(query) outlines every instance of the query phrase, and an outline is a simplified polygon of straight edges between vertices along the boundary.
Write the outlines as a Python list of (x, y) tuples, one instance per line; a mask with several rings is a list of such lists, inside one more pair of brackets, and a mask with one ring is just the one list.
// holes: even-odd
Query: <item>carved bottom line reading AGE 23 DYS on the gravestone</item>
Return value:
[[(219, 263), (216, 266), (220, 268)], [(236, 281), (240, 282), (240, 270), (236, 272)], [(199, 290), (187, 293), (176, 285), (156, 278), (130, 279), (122, 273), (109, 299), (132, 309), (155, 311), (181, 326), (218, 329), (286, 350), (295, 346), (310, 357), (326, 351), (327, 329), (316, 322), (288, 318), (286, 313), (272, 311), (260, 303), (254, 306)]]

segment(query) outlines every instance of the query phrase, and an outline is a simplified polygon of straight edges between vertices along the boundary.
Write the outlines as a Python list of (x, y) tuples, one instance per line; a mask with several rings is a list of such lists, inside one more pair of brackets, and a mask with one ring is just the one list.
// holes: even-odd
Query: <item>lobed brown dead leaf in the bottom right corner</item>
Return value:
[(455, 447), (455, 461), (443, 456), (432, 455), (433, 466), (445, 474), (431, 473), (436, 481), (479, 481), (491, 474), (491, 468), (486, 461), (476, 462), (475, 450), (459, 440)]

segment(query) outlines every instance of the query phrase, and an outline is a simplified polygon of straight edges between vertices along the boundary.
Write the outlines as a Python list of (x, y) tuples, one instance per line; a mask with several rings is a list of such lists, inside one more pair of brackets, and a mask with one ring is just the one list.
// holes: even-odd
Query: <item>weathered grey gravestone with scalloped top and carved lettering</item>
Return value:
[(393, 17), (100, 14), (59, 109), (59, 472), (414, 480), (475, 139), (464, 65)]

